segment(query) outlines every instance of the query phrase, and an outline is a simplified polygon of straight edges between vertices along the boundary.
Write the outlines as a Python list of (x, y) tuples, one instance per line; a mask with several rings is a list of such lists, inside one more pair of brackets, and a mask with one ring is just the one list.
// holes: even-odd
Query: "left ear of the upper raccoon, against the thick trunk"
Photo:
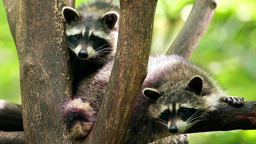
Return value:
[(71, 23), (72, 21), (77, 21), (79, 19), (78, 12), (72, 7), (64, 7), (62, 9), (62, 14), (67, 23)]

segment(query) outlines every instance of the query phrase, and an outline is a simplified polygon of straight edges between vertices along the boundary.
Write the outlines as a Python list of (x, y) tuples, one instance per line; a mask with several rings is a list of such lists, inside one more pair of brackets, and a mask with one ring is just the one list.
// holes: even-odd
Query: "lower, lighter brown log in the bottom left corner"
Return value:
[(0, 131), (0, 144), (25, 144), (23, 131), (4, 132)]

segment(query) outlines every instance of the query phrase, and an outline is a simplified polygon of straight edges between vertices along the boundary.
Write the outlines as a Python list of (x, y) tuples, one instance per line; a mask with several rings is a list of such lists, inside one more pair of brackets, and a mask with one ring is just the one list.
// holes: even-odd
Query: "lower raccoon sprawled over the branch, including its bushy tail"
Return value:
[[(71, 138), (84, 138), (90, 132), (112, 65), (111, 61), (81, 81), (74, 99), (62, 106), (62, 119)], [(182, 134), (207, 112), (217, 109), (220, 101), (240, 105), (244, 99), (228, 96), (208, 70), (186, 58), (178, 55), (150, 56), (148, 74), (124, 143), (146, 144)], [(177, 141), (177, 137), (173, 136), (173, 139)]]

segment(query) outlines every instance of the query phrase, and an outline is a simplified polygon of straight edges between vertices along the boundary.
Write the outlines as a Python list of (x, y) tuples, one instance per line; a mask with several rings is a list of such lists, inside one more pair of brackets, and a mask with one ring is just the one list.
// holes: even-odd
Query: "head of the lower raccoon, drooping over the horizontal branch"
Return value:
[(145, 88), (143, 94), (152, 100), (148, 113), (159, 124), (165, 125), (171, 134), (180, 134), (199, 121), (207, 110), (203, 106), (202, 88), (203, 81), (198, 76), (181, 89), (161, 92)]

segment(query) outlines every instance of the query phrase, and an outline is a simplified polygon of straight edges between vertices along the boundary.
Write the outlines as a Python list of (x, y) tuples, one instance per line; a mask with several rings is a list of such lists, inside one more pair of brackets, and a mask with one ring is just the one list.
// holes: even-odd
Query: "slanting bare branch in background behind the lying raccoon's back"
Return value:
[(218, 0), (196, 0), (193, 8), (166, 54), (190, 57), (208, 27)]

